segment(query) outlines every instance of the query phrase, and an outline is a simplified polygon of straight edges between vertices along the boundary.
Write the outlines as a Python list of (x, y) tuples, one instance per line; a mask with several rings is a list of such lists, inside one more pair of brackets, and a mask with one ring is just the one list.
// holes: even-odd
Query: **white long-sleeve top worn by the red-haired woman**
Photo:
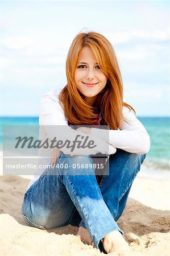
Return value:
[[(39, 125), (40, 133), (43, 134), (43, 138), (54, 138), (57, 140), (65, 141), (69, 139), (72, 141), (76, 135), (85, 135), (81, 131), (76, 131), (68, 126), (68, 120), (65, 118), (64, 110), (59, 103), (60, 89), (53, 89), (49, 93), (44, 94), (40, 101), (40, 115)], [(64, 147), (60, 150), (64, 154), (70, 155), (95, 155), (98, 152), (102, 154), (114, 154), (116, 148), (121, 148), (127, 152), (136, 154), (146, 154), (150, 150), (150, 136), (148, 135), (145, 127), (136, 118), (134, 112), (130, 111), (127, 107), (123, 106), (123, 116), (128, 120), (121, 122), (121, 127), (118, 130), (105, 130), (92, 128), (89, 136), (89, 140), (93, 140), (97, 147), (84, 149), (75, 148), (71, 152), (70, 148)], [(57, 133), (52, 126), (57, 126)], [(61, 126), (61, 133), (60, 131)], [(64, 127), (64, 132), (63, 132)], [(43, 131), (42, 131), (43, 130)], [(109, 132), (109, 136), (108, 136)], [(87, 134), (86, 134), (87, 135)], [(41, 137), (41, 139), (43, 139)], [(47, 151), (45, 152), (47, 155)], [(51, 154), (51, 152), (49, 153)], [(47, 160), (49, 161), (49, 159)], [(47, 162), (49, 164), (49, 162)], [(42, 172), (44, 170), (42, 169)], [(36, 175), (34, 180), (30, 181), (28, 188), (33, 184), (40, 175)]]

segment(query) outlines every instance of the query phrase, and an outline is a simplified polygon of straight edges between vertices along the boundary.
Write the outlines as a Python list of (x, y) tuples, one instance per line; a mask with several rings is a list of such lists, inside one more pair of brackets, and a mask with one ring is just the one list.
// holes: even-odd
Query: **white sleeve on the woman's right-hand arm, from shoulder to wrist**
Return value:
[(123, 116), (128, 120), (121, 122), (121, 129), (108, 130), (92, 128), (92, 135), (103, 139), (114, 147), (121, 148), (127, 152), (136, 154), (146, 154), (150, 150), (150, 136), (145, 127), (136, 118), (134, 112), (127, 107), (123, 107)]

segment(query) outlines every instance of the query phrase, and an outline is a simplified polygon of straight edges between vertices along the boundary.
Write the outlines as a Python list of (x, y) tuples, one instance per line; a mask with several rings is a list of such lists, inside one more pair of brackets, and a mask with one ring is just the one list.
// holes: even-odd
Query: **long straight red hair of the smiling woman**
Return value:
[(67, 85), (59, 94), (59, 101), (65, 117), (74, 125), (95, 125), (97, 114), (93, 106), (89, 106), (81, 97), (74, 81), (74, 71), (81, 49), (90, 47), (101, 71), (107, 77), (105, 88), (97, 94), (97, 108), (101, 110), (103, 124), (109, 125), (111, 130), (119, 129), (123, 117), (122, 108), (135, 110), (123, 102), (123, 82), (117, 57), (111, 43), (97, 32), (78, 34), (69, 48), (66, 61)]

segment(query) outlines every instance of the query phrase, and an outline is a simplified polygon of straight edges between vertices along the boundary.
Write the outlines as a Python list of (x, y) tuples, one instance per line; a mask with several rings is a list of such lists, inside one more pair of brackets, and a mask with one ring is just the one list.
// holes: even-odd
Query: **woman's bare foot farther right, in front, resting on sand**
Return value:
[(125, 251), (129, 249), (128, 243), (122, 237), (121, 232), (114, 230), (102, 239), (103, 247), (106, 253)]

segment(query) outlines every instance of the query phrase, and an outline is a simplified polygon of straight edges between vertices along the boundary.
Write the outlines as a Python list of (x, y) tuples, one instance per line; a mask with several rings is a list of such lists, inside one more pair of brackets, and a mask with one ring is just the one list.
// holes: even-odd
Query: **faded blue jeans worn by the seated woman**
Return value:
[(61, 152), (55, 166), (68, 164), (68, 168), (48, 168), (28, 188), (22, 204), (25, 222), (40, 229), (68, 224), (84, 226), (98, 249), (101, 239), (113, 230), (123, 235), (116, 221), (125, 209), (132, 182), (144, 158), (146, 154), (117, 149), (110, 155), (109, 168), (107, 166), (98, 184), (93, 168), (73, 170), (69, 167), (78, 163), (93, 164), (91, 156), (67, 156)]

